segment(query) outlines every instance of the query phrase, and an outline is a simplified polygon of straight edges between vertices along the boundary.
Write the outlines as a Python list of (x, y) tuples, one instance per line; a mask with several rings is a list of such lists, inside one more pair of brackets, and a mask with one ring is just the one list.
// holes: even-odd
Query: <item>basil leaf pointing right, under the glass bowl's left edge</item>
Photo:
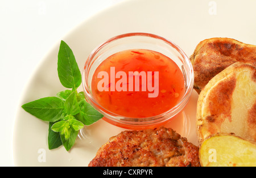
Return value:
[(100, 120), (103, 115), (96, 111), (86, 100), (79, 102), (80, 112), (75, 115), (76, 119), (81, 121), (84, 125), (90, 125)]

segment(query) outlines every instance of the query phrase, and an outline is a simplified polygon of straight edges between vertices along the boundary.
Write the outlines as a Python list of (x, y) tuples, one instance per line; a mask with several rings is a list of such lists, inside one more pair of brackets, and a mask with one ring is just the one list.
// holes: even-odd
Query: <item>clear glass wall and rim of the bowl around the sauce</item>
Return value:
[[(91, 87), (94, 71), (102, 61), (106, 60), (106, 58), (127, 49), (154, 50), (171, 58), (171, 60), (174, 61), (177, 66), (179, 66), (179, 69), (183, 73), (184, 77), (185, 92), (175, 107), (157, 116), (133, 118), (117, 115), (116, 113), (108, 111), (97, 103), (92, 94)], [(105, 121), (126, 129), (157, 128), (163, 124), (166, 124), (166, 122), (170, 121), (172, 118), (174, 118), (174, 116), (183, 111), (183, 108), (188, 103), (192, 94), (193, 82), (193, 67), (183, 50), (181, 50), (179, 46), (175, 45), (171, 41), (150, 33), (126, 33), (105, 41), (105, 43), (93, 50), (86, 60), (84, 70), (82, 71), (82, 86), (84, 88), (85, 98), (88, 103), (90, 103), (95, 109), (97, 109), (97, 111), (104, 115), (103, 119)]]

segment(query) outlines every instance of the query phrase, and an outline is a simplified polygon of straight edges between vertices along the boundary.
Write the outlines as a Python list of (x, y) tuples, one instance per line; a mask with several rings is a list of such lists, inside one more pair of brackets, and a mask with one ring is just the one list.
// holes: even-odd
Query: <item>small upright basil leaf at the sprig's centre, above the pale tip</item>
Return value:
[(72, 92), (71, 95), (68, 96), (64, 103), (65, 110), (67, 111), (68, 115), (76, 115), (79, 113), (79, 104), (77, 103), (76, 99), (76, 92)]

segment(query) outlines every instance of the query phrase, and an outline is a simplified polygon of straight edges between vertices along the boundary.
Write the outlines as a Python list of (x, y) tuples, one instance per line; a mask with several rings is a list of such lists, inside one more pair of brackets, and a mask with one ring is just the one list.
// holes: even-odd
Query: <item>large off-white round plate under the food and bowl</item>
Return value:
[[(231, 37), (256, 44), (256, 1), (131, 0), (119, 3), (87, 19), (63, 40), (73, 50), (80, 70), (89, 53), (110, 37), (128, 32), (148, 32), (166, 37), (190, 56), (196, 45), (210, 37)], [(55, 96), (65, 90), (57, 77), (58, 42), (30, 78), (20, 106), (28, 101)], [(82, 91), (81, 87), (79, 91)], [(167, 126), (197, 145), (193, 91), (184, 112)], [(100, 120), (86, 126), (71, 151), (61, 146), (48, 150), (48, 123), (23, 111), (16, 113), (13, 154), (15, 166), (87, 166), (109, 137), (124, 129)], [(44, 159), (45, 158), (45, 159)]]

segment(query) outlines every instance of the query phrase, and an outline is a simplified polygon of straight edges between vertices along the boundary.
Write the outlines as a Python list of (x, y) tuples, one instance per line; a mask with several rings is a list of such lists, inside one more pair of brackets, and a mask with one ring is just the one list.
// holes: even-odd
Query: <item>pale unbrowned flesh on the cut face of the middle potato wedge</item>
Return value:
[(250, 79), (251, 72), (243, 70), (236, 75), (236, 88), (232, 95), (231, 103), (231, 121), (226, 119), (221, 124), (220, 132), (235, 133), (236, 135), (254, 140), (254, 135), (249, 134), (249, 126), (247, 122), (248, 110), (255, 104), (256, 82)]

